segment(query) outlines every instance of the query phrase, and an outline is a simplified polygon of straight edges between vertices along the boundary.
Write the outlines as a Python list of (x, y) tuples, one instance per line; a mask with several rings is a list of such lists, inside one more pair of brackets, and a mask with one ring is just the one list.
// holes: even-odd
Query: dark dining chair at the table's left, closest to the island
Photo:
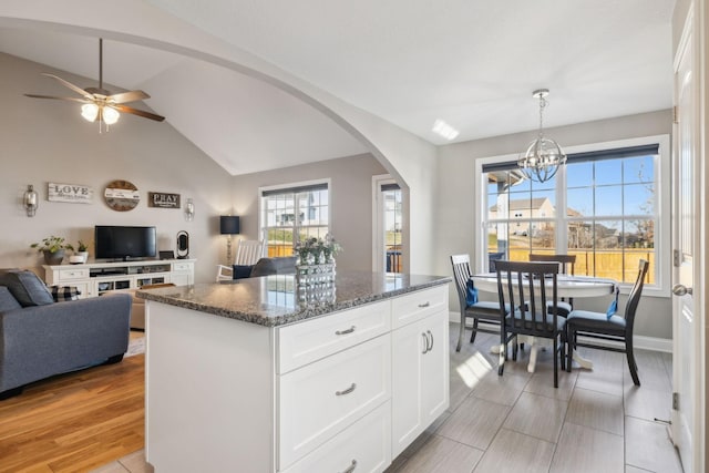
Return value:
[[(476, 300), (475, 288), (473, 281), (470, 278), (472, 273), (470, 270), (470, 256), (469, 255), (451, 255), (451, 264), (453, 265), (453, 276), (455, 279), (455, 289), (458, 289), (458, 298), (461, 305), (461, 328), (458, 336), (458, 347), (455, 351), (461, 351), (463, 346), (463, 337), (465, 335), (466, 323), (465, 321), (473, 319), (472, 333), (470, 336), (470, 342), (475, 341), (475, 335), (479, 331), (485, 333), (499, 333), (497, 329), (487, 329), (479, 326), (479, 321), (500, 326), (500, 305), (497, 302), (487, 302)], [(469, 297), (469, 288), (471, 297)]]

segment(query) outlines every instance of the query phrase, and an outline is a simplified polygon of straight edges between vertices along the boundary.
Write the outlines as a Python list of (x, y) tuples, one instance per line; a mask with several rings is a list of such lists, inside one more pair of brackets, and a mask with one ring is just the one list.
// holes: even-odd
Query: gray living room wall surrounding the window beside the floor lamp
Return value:
[(331, 233), (345, 250), (338, 255), (340, 268), (372, 268), (372, 176), (387, 174), (371, 155), (331, 160), (305, 166), (255, 173), (234, 178), (234, 214), (243, 216), (242, 236), (258, 237), (258, 188), (330, 178)]

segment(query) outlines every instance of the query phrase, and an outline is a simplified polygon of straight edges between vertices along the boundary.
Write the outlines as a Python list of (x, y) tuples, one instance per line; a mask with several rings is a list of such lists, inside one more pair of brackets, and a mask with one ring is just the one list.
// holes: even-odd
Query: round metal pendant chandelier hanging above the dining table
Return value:
[(552, 138), (544, 136), (542, 115), (547, 105), (546, 97), (548, 89), (540, 89), (532, 93), (532, 96), (540, 100), (540, 134), (527, 147), (527, 151), (520, 155), (517, 165), (527, 179), (544, 183), (556, 174), (558, 166), (566, 163), (566, 155), (562, 147)]

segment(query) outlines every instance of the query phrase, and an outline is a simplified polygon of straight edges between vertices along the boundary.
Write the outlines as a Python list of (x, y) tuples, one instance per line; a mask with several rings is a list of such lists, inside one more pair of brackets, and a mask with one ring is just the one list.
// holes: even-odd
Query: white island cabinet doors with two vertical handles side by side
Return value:
[(392, 456), (449, 407), (448, 310), (392, 332)]

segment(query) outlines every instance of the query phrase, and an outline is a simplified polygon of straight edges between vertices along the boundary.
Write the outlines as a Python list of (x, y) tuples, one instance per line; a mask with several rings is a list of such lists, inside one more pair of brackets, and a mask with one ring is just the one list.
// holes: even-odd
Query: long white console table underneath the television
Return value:
[(195, 281), (196, 259), (151, 259), (142, 261), (89, 263), (85, 265), (44, 265), (48, 286), (75, 286), (80, 298), (96, 297), (116, 289), (172, 282), (188, 286)]

